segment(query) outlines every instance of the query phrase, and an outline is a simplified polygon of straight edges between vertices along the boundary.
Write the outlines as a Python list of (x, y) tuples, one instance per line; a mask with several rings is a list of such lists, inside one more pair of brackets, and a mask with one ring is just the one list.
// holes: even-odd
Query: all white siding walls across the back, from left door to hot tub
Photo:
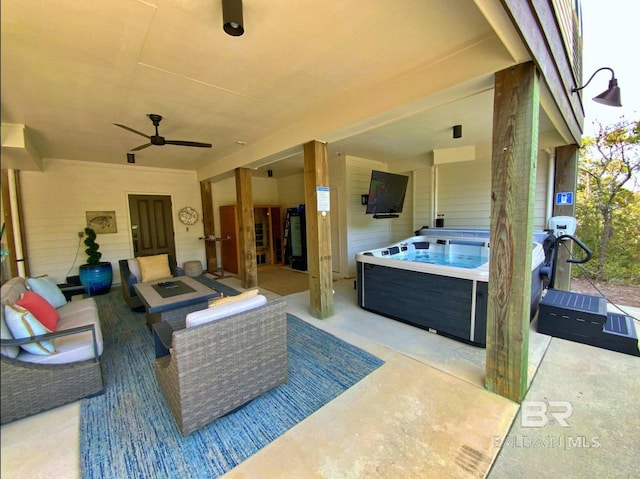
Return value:
[[(486, 151), (485, 151), (486, 150)], [(534, 228), (546, 227), (548, 155), (538, 156)], [(433, 175), (437, 174), (437, 208), (445, 214), (445, 226), (454, 228), (488, 228), (490, 218), (491, 162), (488, 148), (478, 149), (478, 159), (426, 167), (410, 175), (404, 211), (400, 218), (376, 220), (365, 214), (360, 196), (369, 189), (371, 170), (388, 171), (385, 163), (353, 156), (330, 163), (330, 186), (343, 201), (340, 214), (332, 205), (332, 228), (340, 227), (342, 266), (340, 275), (355, 276), (355, 254), (399, 241), (413, 235), (422, 225), (433, 226)], [(437, 173), (435, 173), (437, 169)], [(86, 211), (115, 211), (118, 232), (98, 236), (104, 261), (114, 266), (132, 256), (128, 194), (168, 195), (172, 198), (174, 217), (180, 208), (192, 206), (202, 215), (200, 188), (195, 172), (184, 170), (132, 167), (45, 160), (44, 172), (20, 173), (24, 201), (27, 251), (32, 275), (49, 274), (56, 281), (78, 274), (86, 261), (84, 244), (77, 232), (86, 224)], [(304, 175), (287, 178), (257, 178), (252, 182), (254, 202), (281, 205), (283, 209), (304, 203)], [(212, 185), (215, 231), (220, 231), (219, 207), (235, 204), (235, 178)], [(178, 264), (200, 260), (204, 263), (202, 223), (187, 228), (174, 221)], [(77, 258), (76, 258), (77, 254)], [(218, 253), (218, 258), (220, 254)], [(74, 263), (75, 260), (75, 263)], [(73, 267), (72, 267), (73, 265)]]

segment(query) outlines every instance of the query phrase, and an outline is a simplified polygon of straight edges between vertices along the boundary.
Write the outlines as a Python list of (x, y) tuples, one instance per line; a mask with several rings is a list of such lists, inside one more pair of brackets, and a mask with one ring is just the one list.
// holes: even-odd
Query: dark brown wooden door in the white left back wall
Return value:
[(133, 255), (168, 253), (176, 258), (171, 197), (129, 195)]

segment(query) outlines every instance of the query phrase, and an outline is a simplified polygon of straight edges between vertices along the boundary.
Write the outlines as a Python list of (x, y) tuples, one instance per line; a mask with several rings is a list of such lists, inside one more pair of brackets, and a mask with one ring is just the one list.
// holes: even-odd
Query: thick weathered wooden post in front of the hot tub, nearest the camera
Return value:
[(532, 62), (495, 75), (485, 385), (517, 402), (528, 386), (538, 81)]

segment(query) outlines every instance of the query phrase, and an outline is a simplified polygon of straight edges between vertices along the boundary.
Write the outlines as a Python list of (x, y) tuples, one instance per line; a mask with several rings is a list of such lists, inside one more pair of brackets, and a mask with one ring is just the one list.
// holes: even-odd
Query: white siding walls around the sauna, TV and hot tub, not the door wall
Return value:
[[(400, 218), (376, 220), (365, 214), (360, 196), (369, 190), (371, 170), (388, 171), (382, 162), (353, 156), (330, 160), (330, 187), (338, 190), (342, 205), (331, 205), (331, 227), (340, 229), (340, 271), (336, 276), (355, 276), (355, 254), (367, 249), (379, 248), (409, 236), (423, 225), (434, 227), (433, 198), (437, 196), (439, 211), (445, 213), (445, 226), (453, 228), (489, 228), (491, 215), (491, 161), (488, 147), (479, 148), (479, 158), (464, 163), (451, 163), (439, 167), (428, 166), (410, 172), (403, 213)], [(536, 177), (535, 224), (544, 228), (546, 206), (547, 155), (538, 158)], [(438, 168), (438, 191), (434, 195), (434, 175)], [(278, 204), (286, 208), (304, 203), (304, 175), (292, 175), (278, 180), (254, 180), (254, 202)], [(277, 193), (272, 185), (277, 184)], [(214, 208), (234, 204), (235, 180), (233, 178), (216, 183), (213, 188)], [(270, 200), (269, 198), (275, 199)], [(260, 199), (258, 199), (260, 198)], [(340, 208), (338, 212), (336, 207)], [(219, 215), (216, 214), (216, 218)], [(219, 231), (216, 219), (216, 231)]]

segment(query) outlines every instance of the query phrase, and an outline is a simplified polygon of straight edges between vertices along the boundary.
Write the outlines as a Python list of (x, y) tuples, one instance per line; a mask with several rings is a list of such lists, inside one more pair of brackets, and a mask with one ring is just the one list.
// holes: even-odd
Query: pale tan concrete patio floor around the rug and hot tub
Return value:
[[(558, 402), (568, 427), (525, 427), (518, 404), (484, 389), (483, 349), (362, 310), (353, 280), (334, 287), (331, 318), (309, 314), (308, 292), (287, 296), (287, 311), (385, 364), (224, 477), (640, 476), (639, 358), (550, 338), (532, 323), (523, 405)], [(80, 477), (79, 405), (3, 426), (3, 479)]]

